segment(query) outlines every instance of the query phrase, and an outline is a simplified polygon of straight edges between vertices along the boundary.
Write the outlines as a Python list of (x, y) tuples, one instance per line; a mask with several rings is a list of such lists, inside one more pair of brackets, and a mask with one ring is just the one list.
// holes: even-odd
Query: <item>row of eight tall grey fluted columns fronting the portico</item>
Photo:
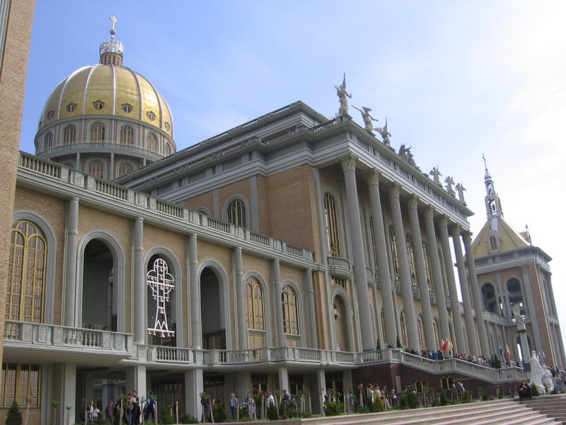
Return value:
[[(357, 290), (356, 294), (359, 309), (360, 337), (362, 349), (367, 351), (374, 349), (376, 346), (376, 333), (374, 332), (374, 327), (371, 326), (371, 307), (369, 305), (366, 273), (355, 273), (355, 271), (358, 270), (365, 271), (367, 258), (366, 253), (364, 252), (365, 244), (362, 236), (362, 225), (359, 218), (361, 214), (358, 199), (359, 188), (357, 186), (355, 174), (356, 157), (349, 155), (340, 159), (340, 162), (342, 164), (345, 180), (348, 212), (347, 223), (350, 230), (350, 237), (352, 238), (352, 263), (354, 266), (355, 288)], [(376, 261), (379, 266), (378, 276), (381, 288), (383, 317), (385, 321), (383, 328), (385, 329), (384, 337), (386, 345), (391, 344), (392, 346), (395, 346), (398, 331), (396, 327), (397, 320), (395, 318), (395, 306), (392, 293), (392, 287), (394, 288), (394, 286), (392, 286), (392, 273), (390, 273), (390, 263), (387, 255), (388, 244), (386, 243), (385, 233), (386, 222), (383, 218), (383, 210), (381, 208), (380, 186), (383, 186), (383, 192), (388, 194), (393, 234), (395, 236), (398, 255), (401, 297), (403, 298), (409, 348), (412, 348), (415, 351), (419, 351), (424, 348), (430, 351), (436, 351), (438, 348), (436, 336), (434, 334), (434, 319), (432, 314), (430, 291), (427, 282), (426, 259), (422, 245), (422, 229), (420, 226), (420, 219), (422, 219), (424, 221), (424, 235), (428, 244), (430, 274), (437, 300), (441, 339), (451, 339), (449, 313), (446, 305), (446, 291), (444, 290), (443, 271), (441, 268), (441, 263), (444, 263), (444, 273), (446, 275), (450, 309), (452, 312), (457, 312), (457, 314), (451, 314), (455, 336), (455, 341), (452, 341), (454, 345), (454, 353), (466, 352), (473, 355), (481, 354), (485, 357), (490, 356), (490, 348), (487, 342), (487, 331), (483, 320), (483, 307), (480, 290), (475, 276), (475, 264), (473, 262), (470, 232), (463, 231), (456, 223), (449, 225), (448, 217), (436, 212), (434, 205), (420, 206), (420, 200), (416, 196), (410, 196), (408, 199), (407, 209), (409, 229), (405, 229), (400, 202), (401, 187), (397, 183), (384, 183), (385, 179), (381, 178), (379, 171), (377, 170), (371, 171), (369, 174), (366, 174), (365, 177), (369, 190), (371, 216), (374, 219), (373, 236), (377, 245)], [(436, 229), (439, 230), (441, 250), (439, 250), (437, 246)], [(420, 310), (422, 312), (426, 346), (421, 346), (418, 336), (417, 314), (415, 312), (415, 302), (413, 299), (413, 282), (408, 247), (405, 243), (405, 235), (408, 230), (410, 230), (413, 242), (417, 278), (417, 288), (415, 288), (415, 290), (418, 289), (420, 292)], [(458, 301), (453, 260), (450, 254), (450, 237), (452, 238), (452, 244), (454, 245), (458, 280), (463, 299), (463, 322), (460, 312), (460, 302)], [(467, 265), (469, 276), (466, 276), (462, 241), (466, 258), (468, 260)], [(472, 301), (477, 310), (475, 319), (474, 311), (472, 309)], [(466, 326), (468, 341), (466, 341), (463, 333), (463, 324)], [(476, 336), (476, 329), (479, 341)]]

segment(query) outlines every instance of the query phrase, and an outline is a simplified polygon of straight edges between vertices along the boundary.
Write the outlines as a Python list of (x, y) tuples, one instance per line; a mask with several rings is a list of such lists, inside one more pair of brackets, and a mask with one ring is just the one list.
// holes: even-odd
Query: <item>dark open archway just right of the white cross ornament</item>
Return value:
[(220, 296), (220, 282), (212, 267), (200, 273), (200, 316), (202, 322), (202, 348), (205, 350), (226, 349), (224, 311)]

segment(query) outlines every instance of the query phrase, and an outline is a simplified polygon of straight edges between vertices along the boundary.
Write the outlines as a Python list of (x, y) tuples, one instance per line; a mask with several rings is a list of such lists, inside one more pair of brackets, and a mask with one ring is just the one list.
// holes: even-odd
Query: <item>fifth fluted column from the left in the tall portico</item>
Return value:
[(434, 209), (428, 207), (424, 211), (424, 226), (427, 228), (427, 239), (429, 246), (430, 271), (434, 283), (434, 293), (437, 295), (437, 310), (440, 324), (441, 339), (450, 338), (450, 327), (448, 326), (448, 310), (446, 310), (446, 293), (444, 292), (444, 281), (442, 280), (442, 269), (438, 255), (437, 234), (434, 231)]

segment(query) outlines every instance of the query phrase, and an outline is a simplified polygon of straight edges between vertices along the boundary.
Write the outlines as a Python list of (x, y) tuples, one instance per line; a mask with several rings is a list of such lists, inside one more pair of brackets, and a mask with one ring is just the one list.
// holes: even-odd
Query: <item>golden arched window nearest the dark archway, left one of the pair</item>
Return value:
[(248, 278), (244, 284), (246, 294), (246, 327), (248, 327), (248, 347), (265, 346), (265, 314), (263, 310), (263, 290), (258, 279)]

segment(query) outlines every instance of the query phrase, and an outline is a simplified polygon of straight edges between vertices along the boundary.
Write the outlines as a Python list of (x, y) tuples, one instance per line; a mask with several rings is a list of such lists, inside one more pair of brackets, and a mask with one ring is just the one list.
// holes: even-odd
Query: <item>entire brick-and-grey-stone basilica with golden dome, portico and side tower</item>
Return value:
[(507, 347), (566, 365), (550, 257), (503, 220), (487, 168), (473, 240), (462, 186), (354, 123), (345, 80), (334, 117), (297, 101), (178, 151), (174, 111), (110, 34), (19, 154), (0, 420), (15, 399), (30, 424), (80, 421), (132, 390), (197, 418), (202, 392), (287, 389), (321, 412), (359, 382), (521, 380), (453, 358)]

